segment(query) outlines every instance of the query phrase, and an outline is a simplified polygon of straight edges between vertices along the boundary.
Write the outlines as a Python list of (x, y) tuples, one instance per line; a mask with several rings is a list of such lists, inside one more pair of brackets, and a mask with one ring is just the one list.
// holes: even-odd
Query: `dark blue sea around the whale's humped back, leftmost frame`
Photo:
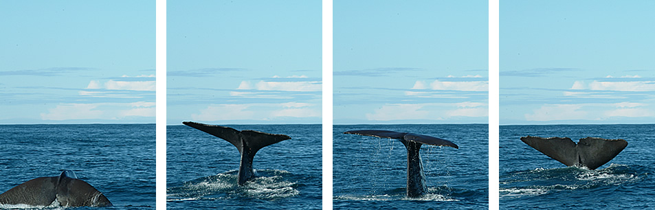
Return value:
[(72, 170), (107, 209), (155, 209), (155, 124), (0, 125), (0, 145), (2, 192)]

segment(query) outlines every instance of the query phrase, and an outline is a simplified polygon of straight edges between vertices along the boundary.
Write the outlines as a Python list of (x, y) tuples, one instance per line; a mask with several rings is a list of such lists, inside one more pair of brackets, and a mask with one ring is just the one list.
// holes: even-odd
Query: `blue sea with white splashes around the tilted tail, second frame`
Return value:
[(289, 135), (262, 148), (256, 176), (236, 185), (234, 145), (188, 126), (166, 126), (167, 209), (321, 209), (320, 125), (228, 125)]

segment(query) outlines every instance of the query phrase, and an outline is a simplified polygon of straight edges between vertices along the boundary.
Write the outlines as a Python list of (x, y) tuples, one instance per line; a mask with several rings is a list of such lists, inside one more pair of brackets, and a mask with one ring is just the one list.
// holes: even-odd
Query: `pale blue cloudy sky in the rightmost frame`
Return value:
[(655, 122), (655, 1), (500, 1), (500, 124)]

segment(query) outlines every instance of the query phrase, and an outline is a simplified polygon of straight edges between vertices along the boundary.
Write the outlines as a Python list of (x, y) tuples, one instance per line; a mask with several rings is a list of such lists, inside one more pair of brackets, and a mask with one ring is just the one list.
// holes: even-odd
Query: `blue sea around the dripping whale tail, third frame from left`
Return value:
[[(347, 130), (392, 130), (447, 139), (459, 149), (423, 145), (428, 185), (423, 198), (406, 197), (407, 151), (395, 139), (346, 135)], [(335, 125), (334, 209), (486, 209), (489, 202), (487, 124)]]

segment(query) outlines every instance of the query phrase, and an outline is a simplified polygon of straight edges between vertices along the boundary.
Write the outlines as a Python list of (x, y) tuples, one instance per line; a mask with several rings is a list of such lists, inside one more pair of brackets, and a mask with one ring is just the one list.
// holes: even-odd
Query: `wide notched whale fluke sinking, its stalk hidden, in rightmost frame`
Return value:
[(584, 166), (590, 170), (595, 170), (614, 159), (628, 145), (628, 141), (623, 139), (592, 137), (580, 139), (577, 145), (569, 138), (559, 137), (542, 138), (527, 136), (521, 137), (521, 141), (560, 163), (564, 163), (564, 165)]

